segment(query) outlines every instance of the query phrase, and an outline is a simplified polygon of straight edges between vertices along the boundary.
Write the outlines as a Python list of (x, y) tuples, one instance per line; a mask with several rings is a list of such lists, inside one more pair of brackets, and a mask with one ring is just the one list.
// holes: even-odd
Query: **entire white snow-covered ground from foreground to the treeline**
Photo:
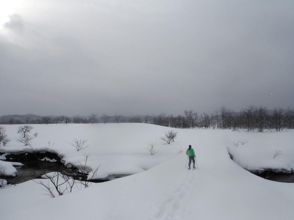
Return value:
[[(251, 170), (294, 170), (293, 131), (246, 133), (228, 130), (173, 129), (178, 138), (163, 145), (159, 137), (171, 130), (149, 124), (33, 125), (39, 135), (35, 149), (59, 149), (76, 165), (90, 153), (89, 165), (101, 164), (98, 177), (136, 173), (68, 193), (54, 199), (41, 185), (27, 181), (0, 190), (1, 219), (292, 219), (294, 183), (264, 180)], [(5, 126), (16, 139), (18, 126)], [(91, 145), (76, 151), (69, 142), (84, 137)], [(235, 147), (231, 141), (248, 139)], [(51, 144), (48, 144), (48, 141)], [(147, 143), (156, 142), (150, 155)], [(54, 145), (53, 145), (54, 143)], [(191, 144), (198, 169), (187, 170), (185, 150)], [(178, 149), (182, 146), (184, 152)], [(15, 141), (11, 151), (25, 148)], [(273, 158), (275, 151), (280, 155)], [(148, 170), (147, 170), (148, 169)], [(146, 170), (146, 171), (144, 171)], [(48, 181), (48, 180), (44, 180)]]

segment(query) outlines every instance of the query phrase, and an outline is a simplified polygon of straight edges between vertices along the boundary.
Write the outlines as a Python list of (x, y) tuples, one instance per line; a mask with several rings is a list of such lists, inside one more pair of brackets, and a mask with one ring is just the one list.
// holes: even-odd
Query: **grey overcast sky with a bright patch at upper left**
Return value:
[(0, 115), (293, 107), (293, 1), (2, 1)]

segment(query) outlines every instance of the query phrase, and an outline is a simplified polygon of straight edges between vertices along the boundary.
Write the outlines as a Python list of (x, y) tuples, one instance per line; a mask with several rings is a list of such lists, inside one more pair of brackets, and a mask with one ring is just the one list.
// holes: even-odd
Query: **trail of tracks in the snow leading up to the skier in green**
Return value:
[[(192, 168), (193, 169), (193, 168)], [(166, 198), (163, 202), (160, 201), (155, 205), (155, 207), (158, 207), (158, 210), (156, 211), (155, 215), (151, 219), (175, 219), (174, 215), (176, 211), (181, 209), (180, 203), (183, 202), (183, 198), (188, 198), (188, 200), (191, 200), (191, 196), (186, 195), (190, 191), (190, 189), (193, 187), (193, 180), (196, 170), (187, 170), (187, 174), (183, 182), (176, 187), (176, 189), (173, 192), (168, 193), (165, 197)], [(176, 220), (176, 219), (175, 219)]]

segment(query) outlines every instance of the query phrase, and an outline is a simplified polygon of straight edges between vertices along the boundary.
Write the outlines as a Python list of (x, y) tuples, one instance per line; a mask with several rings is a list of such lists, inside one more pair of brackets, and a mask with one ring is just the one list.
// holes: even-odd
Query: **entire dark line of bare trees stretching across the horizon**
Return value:
[(294, 111), (291, 108), (275, 108), (268, 110), (265, 107), (248, 106), (239, 112), (235, 112), (225, 106), (213, 114), (198, 114), (193, 110), (185, 110), (183, 115), (173, 116), (161, 113), (160, 115), (145, 116), (109, 116), (103, 114), (91, 114), (87, 117), (81, 116), (37, 116), (27, 115), (5, 115), (0, 117), (1, 124), (49, 124), (49, 123), (150, 123), (173, 128), (213, 128), (258, 131), (293, 129)]

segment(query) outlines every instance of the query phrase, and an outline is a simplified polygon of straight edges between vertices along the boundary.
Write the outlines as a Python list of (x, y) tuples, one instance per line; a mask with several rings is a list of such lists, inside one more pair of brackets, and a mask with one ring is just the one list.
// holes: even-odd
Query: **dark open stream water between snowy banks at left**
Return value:
[(18, 184), (28, 180), (40, 179), (41, 175), (49, 172), (57, 171), (66, 175), (77, 175), (76, 169), (67, 168), (60, 162), (39, 161), (38, 163), (34, 163), (26, 161), (21, 163), (24, 165), (15, 166), (17, 170), (16, 177), (1, 177), (1, 179), (7, 180), (7, 184)]

